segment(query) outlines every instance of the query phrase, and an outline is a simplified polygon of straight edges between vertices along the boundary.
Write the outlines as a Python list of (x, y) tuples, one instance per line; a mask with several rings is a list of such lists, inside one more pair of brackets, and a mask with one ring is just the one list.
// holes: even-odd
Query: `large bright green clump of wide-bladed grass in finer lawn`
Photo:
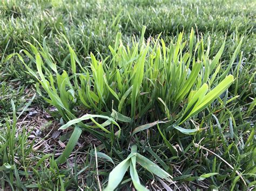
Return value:
[[(59, 70), (48, 49), (39, 43), (39, 49), (29, 43), (31, 49), (23, 50), (36, 64), (36, 72), (26, 65), (20, 54), (12, 54), (18, 56), (38, 81), (38, 93), (58, 109), (66, 122), (59, 129), (75, 127), (57, 162), (63, 163), (69, 158), (83, 130), (100, 140), (105, 153), (114, 157), (130, 145), (151, 142), (151, 137), (145, 137), (144, 132), (156, 131), (154, 126), (159, 133), (153, 139), (163, 139), (171, 154), (177, 156), (180, 151), (173, 145), (177, 142), (174, 135), (196, 136), (205, 129), (204, 116), (219, 109), (213, 102), (224, 93), (227, 96), (227, 88), (234, 81), (228, 73), (242, 39), (228, 65), (222, 67), (220, 58), (225, 41), (214, 58), (210, 58), (210, 47), (205, 50), (204, 40), (196, 39), (193, 29), (189, 41), (183, 41), (180, 33), (177, 41), (169, 45), (160, 36), (145, 41), (144, 32), (145, 27), (140, 39), (134, 37), (127, 45), (118, 33), (114, 46), (109, 46), (111, 55), (106, 58), (100, 55), (102, 59), (97, 60), (91, 53), (90, 61), (84, 66), (66, 39), (71, 72)], [(226, 103), (235, 98), (231, 97)], [(136, 159), (131, 158), (130, 166), (133, 184), (143, 188), (133, 160)], [(150, 160), (141, 160), (147, 169)], [(127, 158), (127, 168), (128, 161)], [(121, 174), (125, 174), (127, 168), (122, 168)], [(110, 179), (117, 175), (114, 173)], [(115, 188), (118, 183), (114, 185), (107, 189)]]

